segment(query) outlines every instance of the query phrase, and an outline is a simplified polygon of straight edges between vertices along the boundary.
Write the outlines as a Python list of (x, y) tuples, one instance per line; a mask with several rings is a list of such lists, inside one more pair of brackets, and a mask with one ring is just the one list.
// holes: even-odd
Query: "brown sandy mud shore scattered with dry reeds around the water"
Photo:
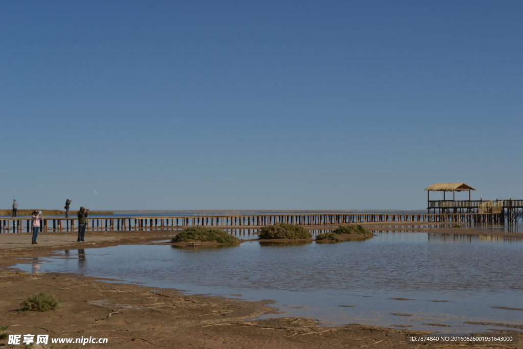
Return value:
[[(370, 229), (390, 224), (368, 224)], [(242, 227), (243, 228), (243, 227)], [(401, 229), (407, 230), (407, 229)], [(414, 231), (425, 231), (413, 229)], [(430, 232), (483, 234), (505, 239), (518, 235), (470, 229), (430, 229)], [(99, 347), (129, 348), (405, 348), (440, 347), (441, 343), (412, 343), (407, 334), (424, 333), (373, 328), (359, 324), (324, 327), (310, 319), (275, 317), (270, 300), (247, 302), (231, 298), (186, 296), (173, 289), (107, 283), (72, 274), (26, 274), (9, 268), (20, 258), (51, 255), (55, 250), (106, 247), (119, 244), (151, 244), (167, 240), (173, 231), (87, 232), (85, 243), (76, 234), (40, 233), (38, 245), (31, 234), (0, 234), (0, 324), (11, 334), (49, 334), (50, 337), (107, 337)], [(94, 244), (93, 244), (94, 243)], [(106, 280), (108, 281), (108, 280)], [(51, 312), (18, 311), (20, 302), (36, 292), (48, 292), (60, 301)], [(109, 317), (109, 314), (111, 316)], [(282, 315), (282, 314), (280, 314)], [(283, 316), (285, 316), (283, 314)], [(253, 319), (254, 318), (254, 319)], [(501, 331), (514, 333), (514, 331)], [(426, 333), (426, 332), (425, 332)], [(521, 335), (521, 332), (518, 332)], [(0, 340), (0, 346), (7, 343)], [(520, 343), (523, 340), (520, 338)], [(96, 345), (87, 344), (89, 347)], [(421, 346), (420, 346), (421, 345)], [(517, 347), (516, 345), (444, 344), (444, 347)], [(19, 346), (22, 347), (22, 346)], [(38, 348), (41, 346), (33, 346)], [(49, 347), (49, 346), (46, 346)], [(73, 346), (76, 347), (76, 346)]]

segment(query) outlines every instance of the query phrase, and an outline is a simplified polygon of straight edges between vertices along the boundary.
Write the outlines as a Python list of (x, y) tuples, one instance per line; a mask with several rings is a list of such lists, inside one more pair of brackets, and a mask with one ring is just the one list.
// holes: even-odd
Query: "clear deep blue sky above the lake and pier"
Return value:
[(521, 199), (522, 15), (3, 1), (0, 207), (422, 209), (435, 182)]

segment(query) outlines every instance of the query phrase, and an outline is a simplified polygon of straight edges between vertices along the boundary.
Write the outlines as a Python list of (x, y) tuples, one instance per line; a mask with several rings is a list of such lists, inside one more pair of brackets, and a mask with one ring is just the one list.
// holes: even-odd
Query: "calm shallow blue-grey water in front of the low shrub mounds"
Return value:
[(187, 294), (274, 299), (287, 312), (277, 316), (331, 324), (407, 325), (446, 333), (508, 329), (465, 321), (523, 325), (523, 311), (491, 308), (523, 309), (523, 241), (412, 232), (377, 235), (356, 242), (256, 241), (210, 249), (86, 248), (28, 259), (16, 267), (117, 278)]

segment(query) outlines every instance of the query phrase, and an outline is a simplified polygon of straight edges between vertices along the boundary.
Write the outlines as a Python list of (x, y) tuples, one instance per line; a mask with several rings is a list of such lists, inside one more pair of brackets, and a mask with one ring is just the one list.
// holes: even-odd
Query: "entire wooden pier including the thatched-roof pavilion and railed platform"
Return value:
[[(222, 229), (256, 229), (275, 223), (294, 223), (321, 227), (337, 224), (390, 222), (390, 223), (498, 223), (523, 220), (523, 200), (471, 200), (471, 190), (465, 183), (435, 183), (427, 190), (427, 213), (263, 213), (244, 215), (163, 216), (88, 218), (88, 230), (178, 230), (190, 226), (214, 226)], [(430, 200), (430, 192), (443, 192), (443, 200)], [(469, 192), (469, 200), (456, 200), (456, 192)], [(452, 200), (445, 193), (452, 192)], [(41, 231), (73, 231), (77, 219), (44, 218)], [(31, 232), (31, 218), (1, 218), (0, 233)]]

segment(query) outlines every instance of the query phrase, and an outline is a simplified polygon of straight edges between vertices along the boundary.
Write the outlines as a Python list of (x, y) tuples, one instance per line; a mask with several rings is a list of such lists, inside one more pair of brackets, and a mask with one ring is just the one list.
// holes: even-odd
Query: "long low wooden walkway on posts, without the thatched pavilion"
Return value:
[[(223, 229), (254, 228), (274, 223), (294, 223), (303, 226), (336, 226), (337, 224), (390, 223), (503, 223), (501, 213), (315, 213), (292, 215), (210, 215), (174, 217), (104, 217), (88, 218), (88, 230), (172, 230), (190, 226), (214, 226)], [(41, 231), (73, 231), (78, 220), (72, 218), (45, 218)], [(0, 218), (1, 233), (31, 232), (30, 218)]]

